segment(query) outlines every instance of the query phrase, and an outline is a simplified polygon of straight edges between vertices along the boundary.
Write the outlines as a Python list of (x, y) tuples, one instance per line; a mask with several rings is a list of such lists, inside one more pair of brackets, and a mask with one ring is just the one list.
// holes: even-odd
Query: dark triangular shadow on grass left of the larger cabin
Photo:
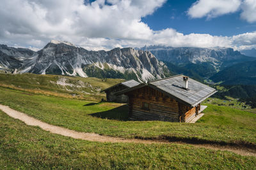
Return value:
[(92, 117), (99, 117), (99, 118), (107, 118), (110, 120), (120, 120), (120, 121), (128, 121), (129, 114), (128, 114), (128, 105), (125, 104), (123, 106), (119, 106), (112, 110), (102, 111), (98, 113), (90, 114)]

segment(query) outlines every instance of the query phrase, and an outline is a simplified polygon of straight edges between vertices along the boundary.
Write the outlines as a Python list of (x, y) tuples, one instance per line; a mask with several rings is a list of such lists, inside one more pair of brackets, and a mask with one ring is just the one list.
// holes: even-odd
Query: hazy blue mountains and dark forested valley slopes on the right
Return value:
[(239, 98), (256, 108), (256, 55), (253, 50), (242, 54), (232, 48), (144, 46), (139, 49), (149, 50), (163, 60), (173, 74), (183, 73), (198, 81), (220, 84), (222, 88), (217, 97)]

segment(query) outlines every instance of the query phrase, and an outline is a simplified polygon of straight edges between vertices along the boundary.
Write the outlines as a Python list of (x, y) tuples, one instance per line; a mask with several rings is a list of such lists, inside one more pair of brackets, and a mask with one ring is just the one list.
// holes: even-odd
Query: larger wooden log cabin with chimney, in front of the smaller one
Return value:
[(129, 97), (131, 120), (189, 122), (206, 108), (201, 105), (202, 101), (215, 92), (203, 83), (177, 75), (149, 81), (117, 94)]

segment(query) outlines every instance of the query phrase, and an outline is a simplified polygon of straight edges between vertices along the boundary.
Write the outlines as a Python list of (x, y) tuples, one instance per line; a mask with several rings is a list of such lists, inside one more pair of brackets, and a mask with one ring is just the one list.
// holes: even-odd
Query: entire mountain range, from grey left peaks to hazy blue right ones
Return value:
[[(156, 56), (156, 57), (155, 57)], [(52, 40), (42, 50), (0, 45), (0, 69), (14, 73), (64, 74), (139, 81), (186, 74), (223, 85), (256, 84), (256, 58), (232, 48), (144, 46), (88, 51)]]

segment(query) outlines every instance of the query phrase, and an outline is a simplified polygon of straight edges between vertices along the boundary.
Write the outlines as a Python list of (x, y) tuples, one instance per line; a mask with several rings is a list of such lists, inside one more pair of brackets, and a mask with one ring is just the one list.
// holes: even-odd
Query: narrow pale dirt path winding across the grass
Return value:
[(247, 148), (235, 148), (232, 146), (220, 146), (220, 145), (210, 145), (210, 144), (190, 144), (190, 143), (183, 143), (183, 142), (170, 142), (170, 141), (157, 141), (157, 140), (143, 140), (143, 139), (124, 139), (124, 138), (113, 138), (109, 136), (100, 136), (99, 134), (95, 133), (84, 133), (84, 132), (76, 132), (69, 129), (65, 129), (63, 127), (58, 127), (56, 125), (46, 124), (37, 120), (36, 118), (29, 117), (28, 115), (21, 113), (20, 111), (13, 110), (8, 106), (4, 106), (0, 104), (0, 110), (4, 111), (7, 115), (13, 118), (17, 118), (24, 122), (27, 125), (38, 126), (44, 129), (45, 131), (52, 132), (54, 134), (60, 134), (62, 136), (68, 136), (75, 139), (83, 139), (86, 141), (98, 141), (98, 142), (109, 142), (109, 143), (144, 143), (144, 144), (151, 144), (151, 143), (177, 143), (180, 145), (189, 144), (193, 145), (196, 148), (207, 148), (211, 150), (227, 150), (230, 152), (237, 153), (243, 156), (254, 156), (256, 157), (256, 150), (247, 149)]

